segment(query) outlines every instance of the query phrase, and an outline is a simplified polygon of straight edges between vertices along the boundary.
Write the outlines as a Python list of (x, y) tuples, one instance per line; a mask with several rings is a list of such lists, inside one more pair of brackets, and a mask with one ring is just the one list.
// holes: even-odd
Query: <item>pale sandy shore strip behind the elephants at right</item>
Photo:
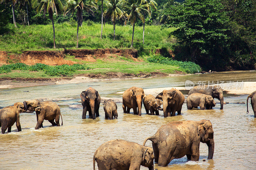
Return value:
[[(256, 90), (256, 82), (231, 82), (231, 83), (222, 83), (222, 84), (215, 84), (220, 85), (223, 91), (226, 91), (228, 94), (251, 94)], [(152, 94), (157, 95), (161, 93), (163, 90), (170, 90), (170, 89), (177, 89), (177, 90), (190, 90), (192, 87), (164, 87), (164, 88), (152, 88), (152, 89), (144, 89), (144, 93), (146, 95)], [(117, 92), (118, 94), (123, 94), (123, 92)]]

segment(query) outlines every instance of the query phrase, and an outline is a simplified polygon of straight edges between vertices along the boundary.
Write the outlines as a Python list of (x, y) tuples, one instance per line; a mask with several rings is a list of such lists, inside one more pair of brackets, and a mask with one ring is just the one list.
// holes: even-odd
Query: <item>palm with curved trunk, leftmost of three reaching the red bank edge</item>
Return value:
[[(33, 3), (36, 5), (36, 3)], [(46, 8), (46, 11), (49, 13), (49, 18), (52, 21), (53, 28), (53, 48), (56, 48), (55, 44), (55, 29), (54, 29), (54, 21), (53, 21), (53, 13), (55, 12), (58, 15), (58, 11), (64, 11), (64, 6), (67, 5), (67, 1), (65, 0), (41, 0), (36, 9), (37, 12), (41, 12)]]

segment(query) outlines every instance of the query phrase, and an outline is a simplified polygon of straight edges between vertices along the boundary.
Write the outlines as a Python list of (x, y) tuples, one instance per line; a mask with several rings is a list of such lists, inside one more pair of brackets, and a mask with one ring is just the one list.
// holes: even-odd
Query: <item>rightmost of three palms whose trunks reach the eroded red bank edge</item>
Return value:
[[(132, 28), (132, 44), (131, 44), (131, 47), (130, 47), (130, 48), (132, 48), (135, 23), (136, 23), (137, 19), (140, 19), (143, 24), (145, 23), (145, 18), (141, 14), (141, 12), (142, 11), (148, 12), (148, 10), (146, 9), (146, 8), (148, 8), (148, 5), (147, 4), (142, 5), (142, 4), (139, 3), (139, 1), (136, 2), (134, 0), (131, 0), (131, 2), (129, 2), (128, 4), (131, 4), (131, 6), (126, 7), (126, 8), (128, 8), (128, 11), (126, 11), (124, 13), (130, 12), (130, 14), (128, 16), (128, 22), (130, 20), (131, 24), (133, 25), (133, 28)], [(122, 17), (122, 16), (120, 16), (120, 17)]]

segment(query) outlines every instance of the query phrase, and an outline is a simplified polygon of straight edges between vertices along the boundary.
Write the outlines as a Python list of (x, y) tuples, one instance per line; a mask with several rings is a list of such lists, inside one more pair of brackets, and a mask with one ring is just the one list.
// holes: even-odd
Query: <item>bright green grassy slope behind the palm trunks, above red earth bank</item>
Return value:
[[(68, 23), (55, 24), (55, 41), (57, 48), (76, 48), (76, 26)], [(52, 50), (52, 25), (18, 25), (8, 27), (9, 33), (0, 35), (0, 50), (9, 53), (22, 53), (25, 50)], [(173, 43), (168, 35), (175, 28), (160, 30), (160, 26), (145, 26), (145, 44), (142, 43), (143, 27), (135, 26), (133, 47), (140, 49), (167, 48), (172, 49)], [(103, 38), (100, 39), (101, 24), (86, 22), (79, 27), (79, 48), (129, 48), (132, 40), (132, 26), (116, 26), (116, 40), (113, 41), (113, 26), (106, 24), (103, 27)]]

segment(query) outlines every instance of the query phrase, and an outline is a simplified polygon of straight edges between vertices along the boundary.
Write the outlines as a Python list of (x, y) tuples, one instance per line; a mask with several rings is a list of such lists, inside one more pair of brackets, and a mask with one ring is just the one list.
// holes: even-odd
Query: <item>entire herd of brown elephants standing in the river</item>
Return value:
[[(220, 86), (195, 86), (187, 98), (187, 108), (211, 109), (215, 106), (214, 98), (220, 100), (220, 109), (223, 109), (223, 90)], [(83, 106), (82, 118), (96, 119), (99, 116), (100, 94), (95, 89), (89, 87), (80, 94)], [(256, 91), (247, 97), (251, 98), (251, 104), (256, 117)], [(177, 89), (163, 90), (156, 97), (145, 95), (142, 88), (131, 87), (123, 93), (124, 113), (130, 113), (133, 109), (135, 115), (141, 115), (142, 103), (146, 113), (159, 115), (159, 110), (164, 112), (164, 117), (174, 116), (176, 112), (181, 114), (181, 108), (185, 101), (184, 95)], [(117, 105), (113, 100), (103, 102), (106, 119), (117, 119)], [(163, 105), (163, 108), (161, 108)], [(12, 125), (16, 122), (18, 131), (21, 131), (20, 113), (25, 111), (35, 111), (37, 124), (35, 129), (43, 127), (43, 121), (48, 120), (53, 126), (60, 126), (60, 107), (52, 101), (28, 100), (14, 103), (13, 106), (4, 107), (0, 110), (0, 127), (2, 134), (8, 128), (11, 132)], [(54, 122), (55, 120), (55, 122)], [(61, 123), (63, 125), (63, 122)], [(146, 142), (152, 141), (152, 148), (145, 146)], [(209, 120), (201, 121), (174, 121), (162, 125), (156, 134), (147, 137), (143, 145), (128, 142), (121, 139), (111, 140), (96, 150), (93, 156), (93, 168), (95, 161), (99, 170), (111, 169), (140, 169), (146, 166), (149, 170), (154, 170), (154, 160), (158, 166), (167, 166), (172, 159), (187, 156), (192, 161), (199, 160), (200, 142), (208, 146), (208, 159), (212, 159), (214, 152), (214, 139), (212, 123)]]

